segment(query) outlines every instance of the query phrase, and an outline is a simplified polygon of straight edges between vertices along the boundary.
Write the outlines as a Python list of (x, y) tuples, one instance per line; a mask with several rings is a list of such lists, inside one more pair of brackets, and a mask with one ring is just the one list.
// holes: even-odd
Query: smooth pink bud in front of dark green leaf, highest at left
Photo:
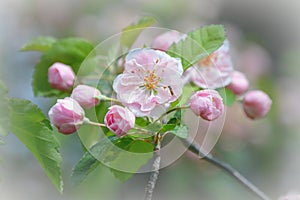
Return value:
[(63, 63), (54, 63), (48, 69), (48, 82), (51, 87), (66, 91), (74, 84), (75, 74), (72, 68)]

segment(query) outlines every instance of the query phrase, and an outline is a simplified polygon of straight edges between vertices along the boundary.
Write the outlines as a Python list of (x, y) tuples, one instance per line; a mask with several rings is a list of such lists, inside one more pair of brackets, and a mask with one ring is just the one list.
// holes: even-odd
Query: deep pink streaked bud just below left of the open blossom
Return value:
[(125, 135), (134, 127), (135, 116), (127, 108), (118, 105), (111, 106), (104, 117), (107, 128), (114, 132), (118, 137)]

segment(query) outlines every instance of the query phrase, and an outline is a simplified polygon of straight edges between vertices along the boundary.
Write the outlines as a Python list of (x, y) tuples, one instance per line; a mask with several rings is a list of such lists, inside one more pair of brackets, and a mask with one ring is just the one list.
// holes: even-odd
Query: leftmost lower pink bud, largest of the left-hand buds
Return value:
[(58, 99), (48, 112), (51, 124), (53, 124), (60, 133), (74, 133), (83, 123), (84, 110), (70, 97)]

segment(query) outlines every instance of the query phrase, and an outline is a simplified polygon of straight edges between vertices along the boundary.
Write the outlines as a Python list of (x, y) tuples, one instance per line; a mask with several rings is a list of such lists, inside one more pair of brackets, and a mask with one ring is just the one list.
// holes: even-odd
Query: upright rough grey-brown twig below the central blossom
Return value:
[[(157, 137), (159, 137), (159, 134), (157, 134)], [(157, 143), (154, 149), (154, 161), (152, 165), (152, 172), (146, 187), (146, 194), (144, 200), (152, 200), (153, 191), (159, 174), (160, 159), (160, 138), (157, 138)]]

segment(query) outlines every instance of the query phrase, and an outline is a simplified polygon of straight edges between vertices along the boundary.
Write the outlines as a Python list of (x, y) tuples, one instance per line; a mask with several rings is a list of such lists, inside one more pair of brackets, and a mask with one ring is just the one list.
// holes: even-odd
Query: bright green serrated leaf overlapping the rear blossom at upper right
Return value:
[(222, 25), (210, 25), (189, 32), (184, 40), (173, 43), (167, 53), (181, 59), (183, 69), (207, 57), (220, 48), (225, 40)]

